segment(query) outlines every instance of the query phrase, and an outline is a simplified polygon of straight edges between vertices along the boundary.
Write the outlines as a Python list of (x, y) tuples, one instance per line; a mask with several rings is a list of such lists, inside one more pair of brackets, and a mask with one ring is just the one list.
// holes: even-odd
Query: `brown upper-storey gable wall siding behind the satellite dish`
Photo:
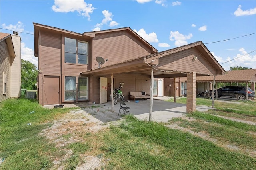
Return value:
[(93, 39), (92, 68), (98, 67), (97, 56), (108, 59), (108, 62), (104, 64), (106, 66), (149, 55), (150, 50), (149, 47), (128, 32), (99, 34)]

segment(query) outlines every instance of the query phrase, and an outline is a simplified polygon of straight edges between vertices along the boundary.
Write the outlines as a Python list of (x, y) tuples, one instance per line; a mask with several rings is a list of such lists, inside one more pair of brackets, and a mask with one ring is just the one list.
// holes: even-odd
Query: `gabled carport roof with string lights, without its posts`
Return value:
[[(186, 50), (188, 52), (185, 53)], [(191, 51), (196, 51), (197, 54), (193, 54)], [(192, 62), (193, 57), (199, 54), (201, 55), (200, 59)], [(172, 66), (174, 64), (175, 67)], [(204, 68), (202, 69), (200, 65), (204, 65)], [(151, 67), (153, 67), (154, 78), (186, 77), (186, 74), (191, 72), (196, 72), (197, 76), (213, 76), (225, 73), (225, 70), (202, 41), (198, 41), (152, 55), (88, 70), (82, 72), (82, 75), (109, 76), (110, 74), (129, 73), (150, 76)]]

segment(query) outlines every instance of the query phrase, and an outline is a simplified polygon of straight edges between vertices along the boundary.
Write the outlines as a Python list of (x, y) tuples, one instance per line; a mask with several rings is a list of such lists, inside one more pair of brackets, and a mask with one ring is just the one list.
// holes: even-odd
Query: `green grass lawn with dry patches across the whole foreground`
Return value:
[[(183, 98), (181, 100), (184, 102)], [(210, 104), (205, 99), (197, 102)], [(251, 110), (250, 115), (254, 115), (255, 106), (247, 104), (245, 106)], [(230, 109), (234, 107), (226, 106)], [(241, 104), (240, 109), (243, 108)], [(247, 153), (225, 149), (190, 133), (170, 129), (163, 123), (140, 121), (132, 115), (123, 117), (119, 125), (110, 125), (108, 129), (96, 133), (86, 131), (90, 129), (87, 124), (80, 125), (81, 132), (72, 133), (72, 127), (69, 127), (68, 133), (60, 134), (60, 137), (69, 141), (76, 139), (77, 135), (81, 140), (58, 146), (38, 134), (72, 108), (44, 109), (36, 101), (9, 99), (1, 103), (0, 109), (0, 157), (4, 158), (1, 170), (55, 169), (53, 162), (60, 158), (65, 158), (60, 162), (63, 169), (74, 170), (85, 162), (84, 155), (104, 161), (102, 169), (252, 170), (256, 167), (256, 158)], [(29, 114), (31, 111), (34, 113)], [(177, 118), (169, 124), (178, 123), (195, 132), (204, 131), (223, 143), (255, 150), (255, 126), (216, 117), (220, 112), (223, 111), (196, 111), (188, 115), (193, 118), (192, 121)], [(240, 115), (240, 112), (228, 113)]]

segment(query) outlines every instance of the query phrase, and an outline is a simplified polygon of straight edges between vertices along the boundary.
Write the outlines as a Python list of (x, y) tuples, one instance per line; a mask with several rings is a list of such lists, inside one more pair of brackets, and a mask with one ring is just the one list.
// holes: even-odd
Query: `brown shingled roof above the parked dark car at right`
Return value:
[[(212, 82), (213, 76), (196, 78), (197, 82)], [(256, 69), (226, 71), (225, 75), (215, 77), (216, 82), (256, 82)]]

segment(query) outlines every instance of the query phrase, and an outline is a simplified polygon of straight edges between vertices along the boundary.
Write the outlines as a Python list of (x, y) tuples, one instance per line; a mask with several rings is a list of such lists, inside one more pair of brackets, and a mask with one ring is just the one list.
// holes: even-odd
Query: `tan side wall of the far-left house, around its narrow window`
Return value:
[[(0, 66), (0, 102), (6, 100), (11, 97), (10, 83), (11, 83), (11, 58), (8, 45), (5, 41), (1, 42), (1, 66)], [(7, 82), (6, 82), (6, 94), (3, 94), (3, 72), (6, 74)]]

